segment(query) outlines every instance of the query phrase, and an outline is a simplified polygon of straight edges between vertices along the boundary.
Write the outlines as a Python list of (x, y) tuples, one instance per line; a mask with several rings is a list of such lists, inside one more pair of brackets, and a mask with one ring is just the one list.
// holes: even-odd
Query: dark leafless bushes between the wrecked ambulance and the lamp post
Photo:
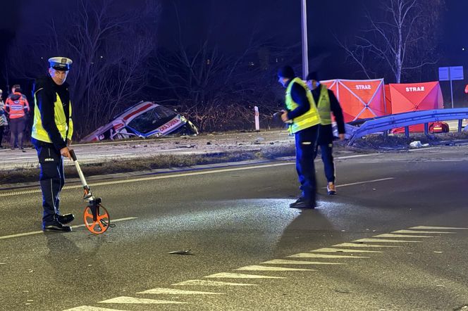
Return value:
[[(183, 33), (180, 23), (178, 29)], [(159, 101), (173, 103), (202, 131), (252, 129), (254, 106), (260, 108), (263, 125), (268, 125), (278, 108), (277, 94), (271, 89), (281, 89), (274, 61), (291, 51), (275, 46), (273, 38), (256, 30), (245, 39), (239, 42), (245, 49), (228, 54), (209, 37), (193, 46), (179, 35), (175, 50), (161, 49), (149, 62), (154, 77), (150, 87)]]

